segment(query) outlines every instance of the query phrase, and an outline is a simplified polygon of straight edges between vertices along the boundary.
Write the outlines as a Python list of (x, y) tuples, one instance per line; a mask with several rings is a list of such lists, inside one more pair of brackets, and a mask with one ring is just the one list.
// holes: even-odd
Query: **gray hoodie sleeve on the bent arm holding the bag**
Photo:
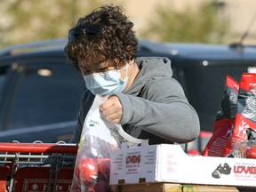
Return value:
[(195, 140), (200, 124), (181, 85), (171, 76), (148, 80), (141, 97), (116, 92), (123, 105), (120, 124), (132, 124), (166, 140), (183, 143)]

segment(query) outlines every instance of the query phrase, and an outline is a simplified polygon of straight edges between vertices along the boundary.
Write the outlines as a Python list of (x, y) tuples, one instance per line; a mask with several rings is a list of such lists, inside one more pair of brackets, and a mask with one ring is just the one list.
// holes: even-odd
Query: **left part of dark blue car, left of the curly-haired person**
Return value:
[(0, 141), (70, 139), (84, 80), (65, 59), (64, 44), (45, 41), (0, 51)]

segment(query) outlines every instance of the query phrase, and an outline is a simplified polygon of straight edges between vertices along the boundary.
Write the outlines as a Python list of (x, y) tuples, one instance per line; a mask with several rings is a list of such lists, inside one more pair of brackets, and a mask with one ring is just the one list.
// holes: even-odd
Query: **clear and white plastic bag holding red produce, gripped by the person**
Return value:
[(124, 132), (120, 124), (110, 124), (100, 117), (104, 99), (96, 95), (85, 120), (76, 156), (71, 191), (113, 191), (109, 186), (110, 156), (122, 142), (137, 146), (142, 140)]

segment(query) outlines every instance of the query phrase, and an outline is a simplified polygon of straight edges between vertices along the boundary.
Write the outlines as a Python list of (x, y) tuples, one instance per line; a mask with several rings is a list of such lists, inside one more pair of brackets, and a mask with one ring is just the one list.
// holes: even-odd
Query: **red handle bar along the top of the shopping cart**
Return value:
[(71, 144), (0, 142), (1, 152), (76, 154), (77, 149), (76, 145)]

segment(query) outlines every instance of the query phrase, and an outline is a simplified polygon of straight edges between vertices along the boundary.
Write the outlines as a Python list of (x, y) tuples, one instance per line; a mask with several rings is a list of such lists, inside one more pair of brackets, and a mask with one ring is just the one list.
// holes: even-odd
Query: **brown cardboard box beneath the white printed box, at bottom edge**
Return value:
[(116, 192), (239, 192), (235, 187), (147, 183), (119, 185)]

